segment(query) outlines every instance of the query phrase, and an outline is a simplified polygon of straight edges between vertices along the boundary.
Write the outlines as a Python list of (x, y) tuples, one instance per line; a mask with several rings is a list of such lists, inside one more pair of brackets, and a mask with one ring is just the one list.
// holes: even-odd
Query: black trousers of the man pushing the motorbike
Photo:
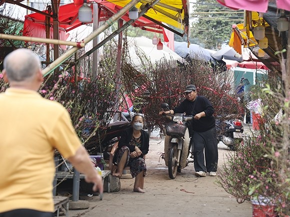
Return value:
[(192, 139), (194, 170), (196, 172), (216, 172), (218, 160), (216, 128), (214, 127), (205, 132), (194, 131)]

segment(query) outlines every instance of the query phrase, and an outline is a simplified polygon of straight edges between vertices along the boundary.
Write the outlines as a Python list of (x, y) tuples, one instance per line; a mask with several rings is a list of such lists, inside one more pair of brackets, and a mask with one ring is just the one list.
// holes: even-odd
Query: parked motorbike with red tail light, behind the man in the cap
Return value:
[(242, 143), (243, 124), (241, 120), (216, 120), (217, 142), (222, 142), (230, 150), (235, 151), (237, 146)]

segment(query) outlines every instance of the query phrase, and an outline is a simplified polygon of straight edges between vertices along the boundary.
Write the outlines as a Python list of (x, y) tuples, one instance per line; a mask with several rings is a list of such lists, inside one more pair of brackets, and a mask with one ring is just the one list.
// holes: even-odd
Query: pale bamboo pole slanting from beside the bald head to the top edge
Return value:
[[(117, 13), (112, 15), (108, 20), (106, 20), (99, 28), (91, 32), (87, 37), (83, 39), (84, 44), (91, 41), (93, 38), (95, 38), (97, 35), (99, 35), (102, 31), (104, 31), (106, 28), (111, 26), (114, 21), (119, 19), (123, 14), (125, 14), (132, 6), (134, 6), (139, 0), (131, 0), (129, 3), (127, 3), (122, 9), (120, 9)], [(75, 53), (79, 48), (78, 47), (72, 47), (68, 51), (66, 51), (64, 54), (59, 56), (56, 60), (54, 60), (51, 64), (49, 64), (46, 68), (42, 70), (43, 76), (48, 75), (51, 73), (56, 67), (58, 67), (62, 62), (64, 62), (66, 59), (68, 59), (73, 53)]]

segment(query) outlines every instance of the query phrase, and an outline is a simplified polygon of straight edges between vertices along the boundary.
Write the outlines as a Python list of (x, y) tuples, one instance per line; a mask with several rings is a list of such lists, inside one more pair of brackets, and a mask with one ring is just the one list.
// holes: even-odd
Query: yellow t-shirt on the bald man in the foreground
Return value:
[(53, 212), (54, 149), (71, 157), (81, 143), (66, 109), (37, 92), (0, 94), (0, 213)]

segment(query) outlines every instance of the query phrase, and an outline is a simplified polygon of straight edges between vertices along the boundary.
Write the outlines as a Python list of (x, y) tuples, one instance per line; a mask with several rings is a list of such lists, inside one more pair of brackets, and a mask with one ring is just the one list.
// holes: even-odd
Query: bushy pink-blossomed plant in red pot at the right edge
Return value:
[[(276, 85), (279, 87), (279, 85)], [(259, 94), (263, 121), (227, 154), (217, 183), (238, 203), (251, 201), (253, 216), (290, 215), (289, 99), (282, 89), (265, 85)], [(275, 115), (281, 109), (280, 115)]]

